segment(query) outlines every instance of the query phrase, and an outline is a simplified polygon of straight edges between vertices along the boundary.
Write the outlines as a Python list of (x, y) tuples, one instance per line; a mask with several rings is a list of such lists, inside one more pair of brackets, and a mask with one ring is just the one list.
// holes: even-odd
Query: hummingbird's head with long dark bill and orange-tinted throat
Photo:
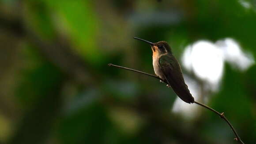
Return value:
[(153, 51), (153, 54), (166, 54), (166, 53), (172, 53), (171, 48), (169, 44), (166, 41), (160, 41), (157, 43), (151, 43), (147, 40), (143, 40), (137, 37), (134, 37), (137, 40), (142, 40), (144, 42), (147, 42), (151, 45), (151, 49)]

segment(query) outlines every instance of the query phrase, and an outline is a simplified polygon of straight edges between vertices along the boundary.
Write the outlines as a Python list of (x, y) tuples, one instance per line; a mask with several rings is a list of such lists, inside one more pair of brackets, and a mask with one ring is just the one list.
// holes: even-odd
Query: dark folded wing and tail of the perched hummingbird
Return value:
[(194, 97), (192, 97), (188, 86), (184, 82), (181, 66), (176, 58), (173, 55), (163, 55), (159, 58), (158, 63), (167, 83), (173, 88), (177, 96), (187, 103), (193, 103)]

